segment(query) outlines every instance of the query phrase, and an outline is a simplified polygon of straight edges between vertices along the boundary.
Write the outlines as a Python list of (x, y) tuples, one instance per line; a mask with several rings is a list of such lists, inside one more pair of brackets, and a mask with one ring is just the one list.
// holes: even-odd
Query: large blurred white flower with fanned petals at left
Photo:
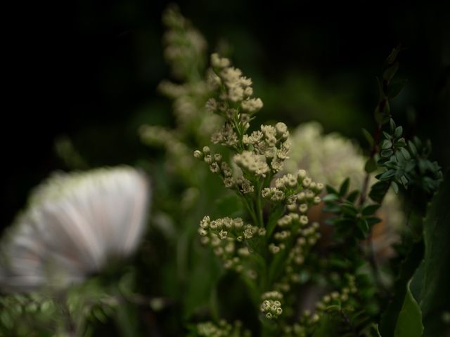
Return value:
[(142, 236), (150, 190), (129, 166), (56, 173), (4, 236), (0, 287), (68, 286), (124, 258)]

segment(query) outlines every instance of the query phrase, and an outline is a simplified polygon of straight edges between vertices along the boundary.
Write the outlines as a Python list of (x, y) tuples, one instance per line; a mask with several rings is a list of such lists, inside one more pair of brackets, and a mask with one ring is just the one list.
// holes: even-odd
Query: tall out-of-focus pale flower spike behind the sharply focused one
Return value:
[(197, 185), (193, 178), (196, 163), (189, 144), (205, 143), (220, 121), (219, 116), (205, 109), (212, 91), (206, 80), (212, 77), (212, 72), (206, 70), (207, 42), (176, 5), (165, 10), (162, 22), (166, 28), (164, 55), (176, 81), (161, 81), (158, 91), (173, 101), (176, 126), (143, 124), (139, 136), (150, 147), (165, 148), (169, 172), (176, 173), (188, 185)]

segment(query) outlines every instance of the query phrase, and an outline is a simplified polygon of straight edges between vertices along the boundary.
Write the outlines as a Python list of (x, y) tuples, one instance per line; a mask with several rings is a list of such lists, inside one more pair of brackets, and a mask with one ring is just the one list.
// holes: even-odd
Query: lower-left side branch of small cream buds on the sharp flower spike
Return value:
[(252, 238), (264, 237), (266, 230), (250, 224), (245, 225), (241, 218), (219, 218), (211, 220), (205, 216), (198, 227), (201, 242), (210, 244), (216, 256), (219, 256), (226, 269), (242, 273), (250, 279), (257, 276), (250, 266), (246, 265), (245, 258), (250, 255), (245, 242)]

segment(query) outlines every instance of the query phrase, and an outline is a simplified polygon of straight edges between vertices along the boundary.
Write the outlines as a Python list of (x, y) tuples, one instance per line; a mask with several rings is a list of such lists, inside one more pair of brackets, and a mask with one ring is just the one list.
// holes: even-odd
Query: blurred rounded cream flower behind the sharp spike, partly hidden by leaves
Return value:
[[(338, 133), (323, 135), (323, 128), (317, 122), (297, 126), (290, 134), (292, 143), (290, 159), (285, 161), (286, 172), (307, 170), (311, 178), (324, 184), (338, 187), (350, 178), (350, 190), (360, 190), (364, 181), (366, 159), (352, 140)], [(373, 176), (370, 185), (375, 183)], [(398, 197), (388, 192), (380, 209), (383, 222), (373, 229), (373, 248), (378, 256), (391, 256), (392, 244), (397, 242), (403, 213)]]

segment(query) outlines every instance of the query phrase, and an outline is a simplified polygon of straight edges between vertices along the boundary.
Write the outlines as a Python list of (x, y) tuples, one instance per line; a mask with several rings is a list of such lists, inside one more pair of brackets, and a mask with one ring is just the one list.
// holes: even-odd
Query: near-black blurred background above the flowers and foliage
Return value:
[[(169, 77), (162, 58), (164, 1), (17, 4), (5, 11), (1, 122), (1, 226), (27, 193), (56, 169), (56, 137), (70, 136), (91, 166), (134, 164), (154, 154), (141, 145), (143, 122), (173, 124), (155, 88)], [(375, 76), (401, 43), (392, 103), (407, 134), (431, 138), (432, 157), (448, 167), (450, 150), (449, 2), (347, 6), (310, 1), (179, 1), (209, 41), (231, 53), (264, 101), (261, 119), (295, 126), (321, 121), (361, 141), (373, 128)]]

